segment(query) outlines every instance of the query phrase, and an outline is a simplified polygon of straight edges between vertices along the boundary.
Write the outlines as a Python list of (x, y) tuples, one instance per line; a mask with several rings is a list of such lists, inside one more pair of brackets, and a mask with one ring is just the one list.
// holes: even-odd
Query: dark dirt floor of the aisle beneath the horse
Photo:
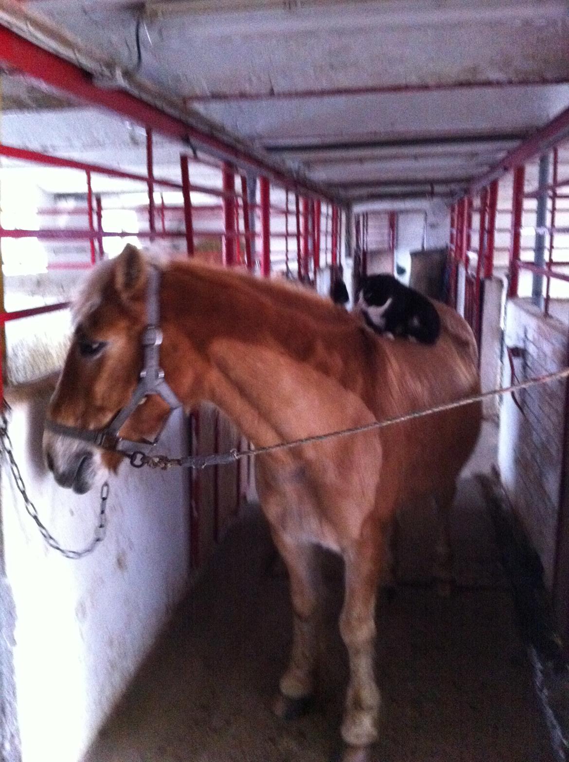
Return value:
[[(492, 524), (475, 479), (453, 521), (462, 587), (380, 591), (381, 762), (553, 762)], [(494, 543), (494, 544), (493, 544)], [(408, 552), (412, 552), (408, 546)], [(347, 681), (342, 568), (323, 555), (328, 610), (312, 712), (270, 712), (289, 651), (286, 575), (256, 512), (225, 537), (88, 762), (328, 762)], [(474, 587), (472, 585), (475, 585)]]

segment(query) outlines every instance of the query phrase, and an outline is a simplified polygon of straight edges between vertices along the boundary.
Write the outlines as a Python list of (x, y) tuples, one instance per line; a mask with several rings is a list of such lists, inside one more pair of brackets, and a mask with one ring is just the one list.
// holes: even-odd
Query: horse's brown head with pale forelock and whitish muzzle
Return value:
[[(132, 398), (142, 367), (141, 336), (146, 325), (145, 288), (149, 260), (128, 245), (116, 260), (100, 264), (75, 303), (75, 331), (66, 363), (47, 411), (50, 421), (83, 430), (107, 426)], [(151, 437), (168, 406), (155, 396), (142, 399), (120, 429), (131, 440)], [(46, 430), (46, 464), (56, 482), (84, 493), (102, 468), (117, 469), (121, 456), (91, 443)]]

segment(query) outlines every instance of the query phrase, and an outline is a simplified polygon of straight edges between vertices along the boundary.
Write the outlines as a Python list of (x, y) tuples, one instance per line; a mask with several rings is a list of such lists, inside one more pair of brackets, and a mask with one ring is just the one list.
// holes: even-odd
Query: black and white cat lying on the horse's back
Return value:
[(392, 275), (363, 277), (356, 304), (376, 333), (434, 344), (440, 317), (426, 296), (404, 286)]

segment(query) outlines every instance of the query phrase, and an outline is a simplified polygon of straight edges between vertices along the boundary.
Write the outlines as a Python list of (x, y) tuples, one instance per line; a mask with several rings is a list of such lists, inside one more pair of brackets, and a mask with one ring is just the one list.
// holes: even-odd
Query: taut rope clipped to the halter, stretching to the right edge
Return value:
[(206, 466), (219, 466), (225, 463), (235, 463), (236, 460), (240, 460), (241, 458), (255, 457), (263, 455), (264, 453), (273, 453), (277, 450), (290, 450), (292, 447), (301, 447), (303, 444), (324, 442), (327, 439), (333, 439), (335, 437), (350, 437), (353, 434), (361, 434), (364, 431), (373, 431), (388, 426), (394, 426), (395, 424), (404, 423), (405, 421), (413, 421), (415, 418), (424, 418), (427, 415), (434, 415), (435, 413), (442, 413), (444, 411), (453, 410), (454, 408), (462, 408), (465, 405), (472, 405), (475, 402), (482, 402), (484, 399), (489, 399), (490, 397), (510, 394), (519, 389), (529, 389), (530, 386), (538, 386), (539, 384), (551, 383), (552, 381), (561, 381), (566, 379), (567, 376), (569, 376), (569, 367), (566, 367), (563, 370), (558, 370), (555, 373), (546, 373), (543, 376), (535, 376), (535, 378), (528, 379), (522, 383), (504, 386), (501, 389), (491, 389), (490, 392), (481, 392), (481, 394), (457, 399), (456, 402), (444, 402), (442, 405), (434, 405), (432, 408), (427, 408), (425, 410), (417, 410), (405, 415), (385, 418), (384, 421), (372, 421), (372, 423), (363, 424), (363, 426), (353, 426), (347, 429), (340, 429), (340, 431), (330, 431), (328, 434), (315, 434), (312, 437), (304, 437), (303, 439), (295, 439), (289, 442), (270, 444), (267, 445), (267, 447), (257, 447), (254, 450), (234, 449), (229, 450), (228, 453), (220, 453), (219, 455), (187, 456), (182, 458), (170, 458), (167, 455), (146, 455), (145, 453), (138, 451), (135, 453), (120, 454), (123, 454), (128, 458), (130, 465), (137, 469), (142, 468), (142, 466), (148, 466), (151, 469), (161, 469), (162, 471), (170, 469), (172, 466), (204, 469)]

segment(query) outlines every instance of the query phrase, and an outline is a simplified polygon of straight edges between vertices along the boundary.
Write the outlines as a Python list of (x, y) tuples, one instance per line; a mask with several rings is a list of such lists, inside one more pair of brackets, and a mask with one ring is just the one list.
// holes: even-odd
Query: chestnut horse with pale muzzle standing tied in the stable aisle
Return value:
[[(75, 336), (50, 403), (55, 426), (44, 434), (44, 449), (57, 482), (76, 491), (90, 488), (101, 467), (120, 463), (117, 453), (70, 438), (66, 427), (84, 434), (107, 427), (133, 398), (154, 268), (127, 246), (97, 267), (75, 306)], [(446, 306), (437, 305), (442, 332), (427, 347), (379, 337), (327, 299), (286, 283), (188, 261), (172, 261), (152, 277), (160, 278), (160, 363), (171, 392), (187, 410), (213, 402), (256, 447), (478, 392), (472, 331)], [(157, 395), (136, 399), (120, 430), (129, 440), (155, 435), (168, 414)], [(344, 559), (344, 760), (368, 759), (378, 735), (375, 603), (389, 524), (416, 498), (449, 507), (480, 419), (480, 406), (469, 405), (257, 458), (258, 494), (289, 571), (294, 610), (292, 655), (275, 702), (283, 716), (303, 706), (314, 687), (321, 597), (315, 545)]]

